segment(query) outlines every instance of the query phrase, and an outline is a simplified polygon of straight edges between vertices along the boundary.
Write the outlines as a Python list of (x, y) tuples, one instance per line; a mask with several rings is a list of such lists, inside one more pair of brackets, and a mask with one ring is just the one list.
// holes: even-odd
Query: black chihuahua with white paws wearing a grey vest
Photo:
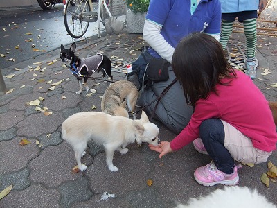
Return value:
[(67, 60), (71, 60), (69, 64), (69, 70), (72, 74), (77, 78), (80, 89), (76, 92), (76, 94), (80, 94), (82, 92), (82, 80), (84, 80), (84, 87), (87, 92), (89, 91), (89, 87), (87, 86), (87, 80), (89, 76), (93, 73), (102, 71), (103, 78), (107, 75), (113, 81), (113, 76), (111, 76), (111, 60), (101, 53), (96, 53), (89, 58), (78, 58), (75, 55), (76, 44), (75, 42), (70, 46), (69, 49), (65, 49), (61, 44), (61, 52), (60, 58), (63, 62)]

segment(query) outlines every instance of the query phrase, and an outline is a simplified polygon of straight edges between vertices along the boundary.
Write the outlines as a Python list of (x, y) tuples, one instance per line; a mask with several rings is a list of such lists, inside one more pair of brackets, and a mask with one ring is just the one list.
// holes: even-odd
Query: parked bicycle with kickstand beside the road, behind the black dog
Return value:
[[(103, 21), (104, 17), (101, 17), (101, 13), (105, 8), (111, 17), (111, 12), (107, 5), (109, 0), (98, 1), (98, 12), (93, 11), (92, 0), (67, 0), (64, 4), (64, 26), (67, 33), (73, 38), (80, 38), (87, 32), (90, 22), (96, 22), (99, 17), (98, 23), (98, 37), (100, 35), (100, 21)], [(104, 6), (104, 8), (102, 8)], [(102, 10), (102, 12), (101, 12)]]

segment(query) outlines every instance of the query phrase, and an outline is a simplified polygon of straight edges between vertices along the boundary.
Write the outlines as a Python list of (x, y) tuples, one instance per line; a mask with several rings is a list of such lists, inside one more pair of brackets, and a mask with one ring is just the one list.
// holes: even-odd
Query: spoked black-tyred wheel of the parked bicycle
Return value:
[(87, 0), (66, 1), (64, 26), (71, 37), (80, 38), (87, 32), (89, 22), (82, 21), (82, 13), (90, 10), (89, 1)]

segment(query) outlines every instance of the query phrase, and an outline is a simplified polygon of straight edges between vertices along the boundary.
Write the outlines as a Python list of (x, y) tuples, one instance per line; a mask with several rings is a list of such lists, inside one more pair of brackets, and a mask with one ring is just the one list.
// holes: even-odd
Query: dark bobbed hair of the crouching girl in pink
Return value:
[[(186, 103), (195, 106), (206, 99), (215, 85), (228, 85), (236, 77), (220, 42), (205, 33), (193, 33), (179, 42), (172, 57), (172, 69), (184, 90)], [(222, 83), (222, 78), (230, 82)]]

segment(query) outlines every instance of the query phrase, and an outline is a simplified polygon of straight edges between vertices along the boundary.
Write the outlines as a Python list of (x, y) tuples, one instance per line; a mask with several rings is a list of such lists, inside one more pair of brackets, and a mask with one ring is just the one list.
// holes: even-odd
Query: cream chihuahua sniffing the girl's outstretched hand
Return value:
[(148, 142), (158, 145), (159, 128), (151, 123), (145, 112), (141, 119), (132, 120), (123, 116), (111, 116), (103, 112), (79, 112), (69, 116), (62, 123), (62, 138), (69, 142), (75, 152), (78, 169), (84, 171), (87, 166), (81, 164), (87, 142), (92, 139), (96, 145), (104, 146), (106, 162), (110, 171), (118, 171), (114, 166), (114, 152), (126, 154), (127, 144)]

